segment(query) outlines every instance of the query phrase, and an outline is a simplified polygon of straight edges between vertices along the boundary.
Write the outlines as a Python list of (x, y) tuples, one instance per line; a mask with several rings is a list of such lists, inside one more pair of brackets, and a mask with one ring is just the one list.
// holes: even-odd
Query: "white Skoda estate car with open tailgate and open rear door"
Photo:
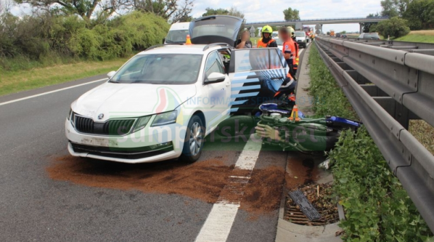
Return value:
[(197, 160), (205, 136), (274, 97), (288, 73), (277, 48), (233, 48), (241, 24), (233, 16), (196, 19), (194, 45), (151, 47), (110, 72), (107, 82), (71, 104), (65, 121), (71, 155)]

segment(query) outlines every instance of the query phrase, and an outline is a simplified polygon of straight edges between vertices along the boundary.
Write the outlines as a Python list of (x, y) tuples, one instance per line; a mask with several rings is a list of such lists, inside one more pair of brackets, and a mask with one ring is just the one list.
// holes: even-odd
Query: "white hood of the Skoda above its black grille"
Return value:
[[(116, 84), (106, 82), (73, 102), (73, 112), (106, 121), (114, 117), (140, 117), (174, 110), (196, 95), (196, 86)], [(99, 115), (103, 114), (101, 119)], [(100, 117), (101, 117), (100, 116)]]

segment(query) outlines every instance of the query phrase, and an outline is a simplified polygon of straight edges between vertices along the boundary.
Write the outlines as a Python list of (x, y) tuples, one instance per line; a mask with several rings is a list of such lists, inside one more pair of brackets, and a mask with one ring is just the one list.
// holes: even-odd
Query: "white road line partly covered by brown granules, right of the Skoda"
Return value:
[[(234, 170), (253, 171), (255, 167), (259, 152), (261, 151), (261, 141), (255, 138), (255, 134), (252, 134), (248, 139), (243, 151), (235, 162)], [(250, 179), (248, 176), (229, 176), (229, 178), (242, 178), (240, 181), (232, 181), (230, 185), (223, 188), (222, 193), (229, 192), (232, 194), (239, 194), (240, 198), (242, 192), (238, 189), (242, 189), (246, 180)], [(231, 232), (233, 221), (240, 207), (240, 202), (228, 202), (225, 197), (220, 194), (218, 202), (212, 206), (212, 210), (209, 213), (207, 220), (203, 224), (201, 231), (196, 237), (196, 242), (225, 242)]]

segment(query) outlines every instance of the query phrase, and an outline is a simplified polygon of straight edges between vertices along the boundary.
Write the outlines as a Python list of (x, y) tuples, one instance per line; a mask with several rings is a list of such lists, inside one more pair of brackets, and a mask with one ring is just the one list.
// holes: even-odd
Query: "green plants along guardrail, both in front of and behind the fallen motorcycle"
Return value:
[[(316, 115), (355, 118), (342, 90), (316, 49), (309, 55), (310, 93), (318, 97)], [(424, 220), (399, 180), (393, 176), (368, 132), (344, 132), (329, 154), (333, 162), (333, 189), (346, 210), (340, 226), (344, 241), (428, 241), (432, 239)]]

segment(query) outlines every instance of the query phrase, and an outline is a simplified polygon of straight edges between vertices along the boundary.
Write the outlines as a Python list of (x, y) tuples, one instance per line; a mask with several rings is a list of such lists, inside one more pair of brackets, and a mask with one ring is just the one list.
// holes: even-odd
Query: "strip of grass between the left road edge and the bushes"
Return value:
[(0, 96), (116, 71), (127, 60), (119, 58), (104, 62), (86, 61), (22, 71), (2, 71)]

